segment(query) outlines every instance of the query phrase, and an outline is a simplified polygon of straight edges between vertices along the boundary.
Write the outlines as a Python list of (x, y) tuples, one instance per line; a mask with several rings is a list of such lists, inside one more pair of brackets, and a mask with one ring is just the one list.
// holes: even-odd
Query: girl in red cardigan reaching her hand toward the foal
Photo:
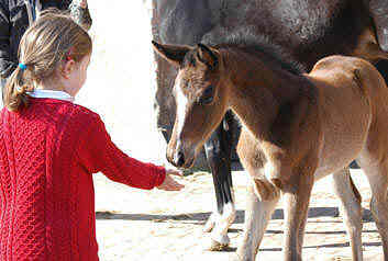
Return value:
[(128, 157), (98, 114), (73, 103), (91, 39), (69, 16), (44, 13), (26, 31), (0, 113), (0, 260), (98, 260), (92, 173), (151, 190), (182, 185)]

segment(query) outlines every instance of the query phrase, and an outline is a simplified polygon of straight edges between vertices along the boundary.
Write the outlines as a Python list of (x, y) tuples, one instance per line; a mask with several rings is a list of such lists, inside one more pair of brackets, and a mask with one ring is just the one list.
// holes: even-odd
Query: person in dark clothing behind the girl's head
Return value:
[(48, 8), (69, 10), (75, 21), (89, 30), (91, 18), (87, 0), (0, 0), (0, 77), (3, 89), (7, 78), (16, 68), (19, 43), (38, 13)]

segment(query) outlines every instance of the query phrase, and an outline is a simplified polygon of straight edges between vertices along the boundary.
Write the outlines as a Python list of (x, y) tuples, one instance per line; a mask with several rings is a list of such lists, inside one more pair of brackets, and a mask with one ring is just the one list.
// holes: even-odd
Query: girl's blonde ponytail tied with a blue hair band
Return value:
[[(11, 112), (16, 112), (29, 105), (29, 91), (33, 91), (32, 82), (26, 82), (26, 67), (20, 64), (7, 80), (4, 105)], [(29, 84), (30, 83), (30, 84)]]

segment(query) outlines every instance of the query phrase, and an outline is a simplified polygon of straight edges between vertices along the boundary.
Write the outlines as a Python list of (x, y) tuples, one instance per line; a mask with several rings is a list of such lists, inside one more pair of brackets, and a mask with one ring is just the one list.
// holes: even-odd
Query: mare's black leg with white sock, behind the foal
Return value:
[(233, 115), (231, 112), (228, 112), (223, 123), (220, 124), (204, 145), (208, 162), (213, 175), (217, 200), (217, 211), (210, 216), (203, 228), (204, 231), (212, 230), (210, 250), (220, 250), (229, 245), (228, 229), (235, 218), (231, 174), (233, 123)]

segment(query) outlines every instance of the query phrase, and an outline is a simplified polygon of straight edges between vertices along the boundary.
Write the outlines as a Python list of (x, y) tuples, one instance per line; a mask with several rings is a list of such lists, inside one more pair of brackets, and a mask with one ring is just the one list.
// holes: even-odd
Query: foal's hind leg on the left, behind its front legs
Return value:
[(363, 260), (363, 208), (361, 206), (361, 195), (352, 181), (348, 168), (335, 172), (332, 174), (332, 178), (334, 192), (340, 197), (341, 209), (344, 214), (344, 222), (351, 241), (353, 260)]

